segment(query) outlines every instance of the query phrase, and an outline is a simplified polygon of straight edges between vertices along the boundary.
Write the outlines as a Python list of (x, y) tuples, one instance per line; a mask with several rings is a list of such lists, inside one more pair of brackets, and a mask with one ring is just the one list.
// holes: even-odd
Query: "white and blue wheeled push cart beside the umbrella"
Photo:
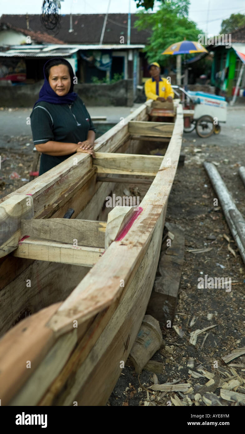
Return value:
[(173, 91), (179, 89), (186, 95), (183, 101), (184, 132), (190, 133), (196, 128), (199, 137), (219, 134), (220, 123), (226, 122), (227, 102), (225, 97), (205, 92), (185, 91), (182, 87), (172, 85)]

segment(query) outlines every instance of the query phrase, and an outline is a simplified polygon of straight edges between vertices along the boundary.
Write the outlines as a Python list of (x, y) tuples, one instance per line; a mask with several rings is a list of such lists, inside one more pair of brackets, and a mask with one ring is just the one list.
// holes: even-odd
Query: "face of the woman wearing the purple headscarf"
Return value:
[(57, 95), (66, 95), (71, 87), (71, 77), (68, 66), (52, 66), (49, 71), (49, 84)]

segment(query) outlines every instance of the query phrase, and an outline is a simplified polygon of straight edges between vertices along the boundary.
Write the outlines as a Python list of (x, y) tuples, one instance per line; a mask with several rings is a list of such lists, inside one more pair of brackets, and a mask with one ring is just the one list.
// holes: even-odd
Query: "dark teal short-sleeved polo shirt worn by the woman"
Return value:
[[(89, 130), (96, 132), (85, 104), (79, 96), (71, 104), (38, 102), (30, 118), (34, 145), (49, 140), (78, 143), (87, 140)], [(39, 175), (57, 166), (71, 155), (74, 153), (60, 156), (41, 154)]]

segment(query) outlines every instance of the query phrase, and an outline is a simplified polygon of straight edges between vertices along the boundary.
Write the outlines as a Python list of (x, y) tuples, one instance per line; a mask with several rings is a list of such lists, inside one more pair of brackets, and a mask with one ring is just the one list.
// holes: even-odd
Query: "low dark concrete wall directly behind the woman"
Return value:
[[(39, 98), (42, 82), (29, 85), (0, 86), (2, 107), (32, 107)], [(133, 105), (133, 80), (120, 80), (114, 84), (83, 83), (74, 91), (89, 106)]]

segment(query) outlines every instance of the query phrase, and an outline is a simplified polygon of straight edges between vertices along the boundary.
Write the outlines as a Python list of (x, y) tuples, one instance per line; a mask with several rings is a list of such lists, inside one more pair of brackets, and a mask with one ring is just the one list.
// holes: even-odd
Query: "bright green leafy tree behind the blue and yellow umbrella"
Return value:
[[(144, 51), (148, 62), (159, 62), (161, 65), (175, 63), (175, 56), (162, 56), (161, 53), (172, 43), (186, 40), (198, 40), (198, 34), (203, 33), (196, 23), (188, 19), (189, 0), (171, 0), (161, 2), (156, 13), (139, 12), (135, 26), (138, 30), (149, 32), (148, 45)], [(172, 59), (170, 59), (170, 57)]]

